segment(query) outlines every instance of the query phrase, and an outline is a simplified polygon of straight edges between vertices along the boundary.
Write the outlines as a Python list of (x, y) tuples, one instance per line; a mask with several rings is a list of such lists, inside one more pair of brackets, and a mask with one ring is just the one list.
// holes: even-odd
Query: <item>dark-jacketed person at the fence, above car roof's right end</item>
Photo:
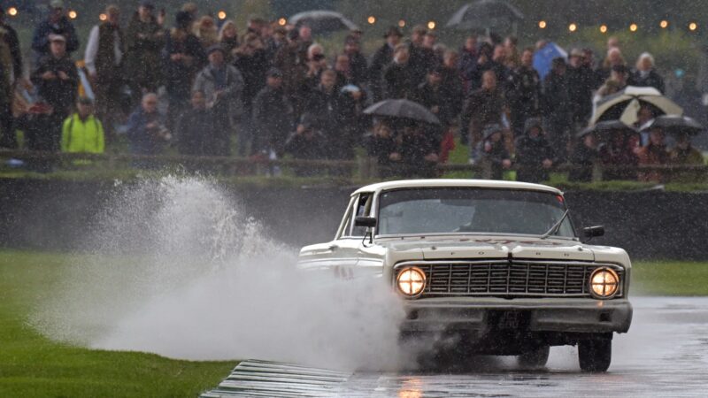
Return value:
[(549, 179), (555, 153), (543, 134), (541, 119), (527, 119), (526, 134), (516, 142), (516, 180), (541, 182)]

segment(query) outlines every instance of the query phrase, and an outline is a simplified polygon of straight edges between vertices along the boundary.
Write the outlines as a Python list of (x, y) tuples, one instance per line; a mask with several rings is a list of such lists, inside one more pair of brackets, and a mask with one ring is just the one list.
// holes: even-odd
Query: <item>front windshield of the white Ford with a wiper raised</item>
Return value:
[[(383, 192), (379, 235), (406, 233), (547, 233), (566, 211), (552, 193), (489, 188), (423, 188)], [(554, 236), (574, 237), (566, 218)]]

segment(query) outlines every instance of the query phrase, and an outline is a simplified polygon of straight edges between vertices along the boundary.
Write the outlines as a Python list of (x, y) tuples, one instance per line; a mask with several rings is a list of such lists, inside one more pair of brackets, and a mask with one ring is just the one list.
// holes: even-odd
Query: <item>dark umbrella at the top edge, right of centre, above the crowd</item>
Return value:
[(446, 27), (459, 30), (491, 29), (507, 27), (521, 19), (524, 19), (524, 14), (512, 4), (502, 0), (478, 0), (462, 6), (450, 18)]

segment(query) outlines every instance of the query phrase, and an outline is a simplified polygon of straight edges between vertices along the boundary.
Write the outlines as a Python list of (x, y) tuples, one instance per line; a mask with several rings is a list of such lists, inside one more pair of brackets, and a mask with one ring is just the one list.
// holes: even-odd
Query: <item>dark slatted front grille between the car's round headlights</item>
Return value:
[(621, 297), (624, 268), (616, 264), (556, 260), (431, 261), (396, 264), (397, 271), (415, 265), (426, 274), (421, 297), (590, 297), (590, 273), (612, 268), (620, 276)]

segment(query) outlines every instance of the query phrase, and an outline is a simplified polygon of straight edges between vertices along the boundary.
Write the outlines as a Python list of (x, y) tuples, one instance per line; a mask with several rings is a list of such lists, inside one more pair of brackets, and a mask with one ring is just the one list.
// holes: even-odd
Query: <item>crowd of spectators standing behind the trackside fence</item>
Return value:
[[(138, 155), (172, 147), (189, 156), (347, 160), (361, 146), (382, 175), (435, 176), (458, 134), (470, 163), (495, 179), (514, 165), (518, 180), (540, 181), (566, 163), (578, 166), (571, 180), (590, 180), (598, 162), (703, 164), (686, 135), (669, 150), (656, 129), (619, 129), (606, 140), (577, 134), (604, 96), (627, 85), (664, 91), (653, 57), (643, 53), (630, 68), (615, 38), (602, 62), (591, 50), (573, 49), (567, 59), (553, 59), (542, 79), (534, 56), (545, 42), (519, 49), (514, 36), (470, 35), (453, 50), (426, 27), (413, 27), (408, 38), (390, 27), (366, 57), (362, 32), (353, 31), (327, 57), (307, 25), (251, 18), (241, 32), (233, 20), (200, 14), (194, 3), (165, 15), (142, 1), (127, 26), (120, 12), (105, 9), (77, 66), (83, 39), (63, 2), (51, 0), (33, 34), (29, 79), (17, 34), (0, 17), (0, 146), (15, 148), (17, 129), (27, 149), (46, 151), (100, 153), (123, 132)], [(12, 95), (12, 87), (30, 100)], [(440, 125), (363, 114), (371, 103), (398, 98), (422, 104)], [(654, 116), (643, 107), (638, 124)], [(660, 176), (619, 170), (604, 178)]]

